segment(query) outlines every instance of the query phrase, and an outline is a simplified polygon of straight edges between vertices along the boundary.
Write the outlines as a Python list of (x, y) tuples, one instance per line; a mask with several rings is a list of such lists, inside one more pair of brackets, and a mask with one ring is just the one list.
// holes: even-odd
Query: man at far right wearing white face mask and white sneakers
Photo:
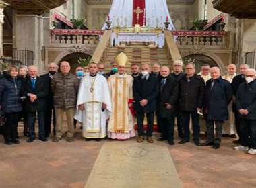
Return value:
[(256, 71), (249, 68), (245, 76), (246, 82), (239, 85), (236, 93), (236, 108), (241, 117), (241, 144), (234, 150), (248, 150), (248, 154), (256, 154)]

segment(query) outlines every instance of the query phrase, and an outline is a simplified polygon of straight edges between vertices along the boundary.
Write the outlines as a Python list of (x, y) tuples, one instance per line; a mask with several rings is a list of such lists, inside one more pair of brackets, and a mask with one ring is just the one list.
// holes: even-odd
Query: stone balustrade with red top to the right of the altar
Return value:
[(229, 32), (172, 31), (178, 46), (228, 46)]

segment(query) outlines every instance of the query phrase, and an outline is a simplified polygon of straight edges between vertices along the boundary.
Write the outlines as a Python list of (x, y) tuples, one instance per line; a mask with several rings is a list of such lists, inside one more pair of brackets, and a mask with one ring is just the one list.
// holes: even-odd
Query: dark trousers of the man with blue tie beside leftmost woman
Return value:
[[(30, 138), (35, 138), (35, 122), (36, 122), (36, 112), (28, 112), (28, 133), (30, 135)], [(38, 119), (38, 138), (42, 139), (45, 138), (45, 132), (44, 132), (44, 111), (38, 111), (37, 112), (37, 119)]]

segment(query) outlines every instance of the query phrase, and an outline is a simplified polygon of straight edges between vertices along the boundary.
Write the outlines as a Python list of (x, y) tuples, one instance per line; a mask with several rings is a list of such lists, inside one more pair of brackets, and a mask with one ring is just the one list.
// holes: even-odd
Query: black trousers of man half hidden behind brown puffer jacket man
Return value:
[(53, 131), (55, 131), (56, 120), (55, 120), (55, 111), (54, 107), (48, 107), (44, 113), (44, 132), (45, 136), (48, 137), (51, 134), (51, 124), (53, 118)]

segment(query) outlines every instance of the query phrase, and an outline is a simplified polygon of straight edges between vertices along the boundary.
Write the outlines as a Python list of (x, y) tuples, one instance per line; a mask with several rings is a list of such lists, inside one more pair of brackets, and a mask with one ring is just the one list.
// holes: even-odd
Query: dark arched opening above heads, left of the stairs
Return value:
[(90, 56), (89, 54), (75, 52), (73, 54), (68, 54), (67, 56), (61, 58), (59, 63), (63, 62), (63, 61), (69, 62), (70, 66), (71, 66), (71, 73), (75, 73), (75, 68), (77, 68), (77, 66), (82, 66), (81, 64), (78, 63), (79, 58), (88, 59), (91, 57), (92, 56)]

